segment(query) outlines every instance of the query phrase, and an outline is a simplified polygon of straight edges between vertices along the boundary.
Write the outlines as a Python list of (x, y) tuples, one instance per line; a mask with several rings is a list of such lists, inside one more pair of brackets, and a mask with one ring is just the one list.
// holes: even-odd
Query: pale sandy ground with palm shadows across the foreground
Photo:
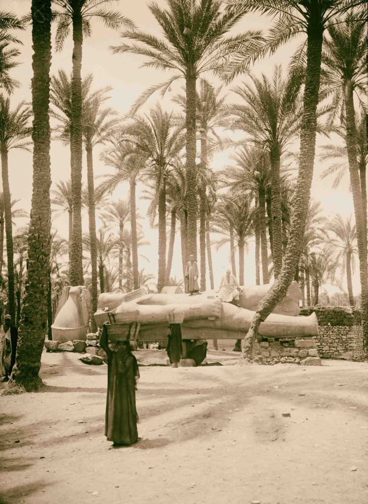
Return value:
[(114, 449), (107, 366), (78, 357), (43, 353), (43, 392), (0, 397), (2, 504), (368, 503), (368, 363), (142, 366), (141, 440)]

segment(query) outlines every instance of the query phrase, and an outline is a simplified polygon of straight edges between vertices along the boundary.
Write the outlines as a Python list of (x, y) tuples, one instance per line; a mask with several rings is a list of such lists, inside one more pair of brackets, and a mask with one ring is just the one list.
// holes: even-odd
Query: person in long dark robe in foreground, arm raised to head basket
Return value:
[(100, 347), (108, 355), (108, 392), (105, 435), (114, 446), (133, 445), (138, 440), (138, 415), (135, 391), (139, 379), (138, 363), (129, 341), (109, 343), (106, 326), (102, 329)]

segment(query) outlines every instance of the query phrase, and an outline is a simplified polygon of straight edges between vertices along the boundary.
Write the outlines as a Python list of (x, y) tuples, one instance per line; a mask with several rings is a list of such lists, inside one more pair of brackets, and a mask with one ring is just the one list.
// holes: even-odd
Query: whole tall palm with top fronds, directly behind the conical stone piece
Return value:
[(73, 195), (73, 233), (70, 262), (71, 285), (83, 284), (82, 267), (82, 47), (83, 36), (91, 35), (91, 20), (98, 18), (108, 28), (118, 29), (122, 25), (133, 27), (132, 23), (118, 12), (101, 7), (111, 4), (111, 0), (54, 0), (58, 8), (53, 19), (57, 21), (56, 48), (61, 50), (73, 30), (73, 74), (71, 85), (71, 180)]

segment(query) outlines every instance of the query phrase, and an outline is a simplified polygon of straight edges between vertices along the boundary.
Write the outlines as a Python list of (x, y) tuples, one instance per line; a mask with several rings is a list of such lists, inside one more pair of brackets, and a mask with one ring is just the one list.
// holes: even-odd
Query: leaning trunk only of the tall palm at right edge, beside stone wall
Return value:
[(346, 150), (349, 161), (350, 185), (353, 194), (356, 238), (358, 244), (359, 273), (361, 287), (361, 322), (365, 351), (368, 351), (368, 265), (367, 265), (367, 235), (365, 226), (366, 208), (363, 208), (360, 187), (359, 168), (356, 149), (356, 125), (353, 100), (353, 87), (350, 80), (345, 82), (345, 114), (346, 114)]

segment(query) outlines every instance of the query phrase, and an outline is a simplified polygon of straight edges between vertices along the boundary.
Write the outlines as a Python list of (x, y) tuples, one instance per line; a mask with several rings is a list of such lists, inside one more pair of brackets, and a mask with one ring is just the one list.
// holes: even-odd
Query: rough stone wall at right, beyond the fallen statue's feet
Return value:
[(316, 347), (325, 359), (362, 360), (364, 357), (360, 311), (347, 306), (302, 308), (300, 315), (316, 313), (319, 335)]

